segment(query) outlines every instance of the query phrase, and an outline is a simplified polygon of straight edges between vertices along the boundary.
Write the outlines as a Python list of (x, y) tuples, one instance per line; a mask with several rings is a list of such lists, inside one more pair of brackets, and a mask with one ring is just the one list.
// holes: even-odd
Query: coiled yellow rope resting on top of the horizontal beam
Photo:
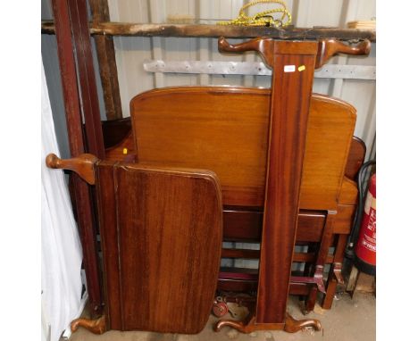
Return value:
[[(280, 4), (280, 8), (274, 8), (263, 12), (258, 12), (254, 16), (247, 16), (244, 11), (248, 7), (255, 4)], [(281, 13), (280, 19), (274, 19), (272, 13)], [(286, 20), (286, 21), (285, 21)], [(231, 21), (218, 21), (218, 25), (240, 25), (240, 26), (272, 26), (272, 27), (286, 27), (292, 22), (292, 16), (288, 12), (284, 1), (280, 0), (255, 0), (251, 3), (245, 4), (239, 10), (238, 18)]]

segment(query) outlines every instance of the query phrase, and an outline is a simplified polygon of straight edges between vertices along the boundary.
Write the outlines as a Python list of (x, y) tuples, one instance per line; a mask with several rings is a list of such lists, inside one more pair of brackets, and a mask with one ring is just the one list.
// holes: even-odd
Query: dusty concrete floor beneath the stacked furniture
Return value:
[[(297, 320), (304, 319), (298, 307), (297, 297), (290, 297), (288, 312)], [(372, 294), (356, 292), (353, 299), (348, 294), (341, 294), (334, 300), (330, 311), (323, 311), (317, 304), (314, 312), (306, 317), (320, 320), (322, 330), (307, 329), (295, 334), (283, 331), (257, 331), (247, 335), (226, 327), (215, 333), (212, 328), (217, 319), (211, 316), (205, 329), (196, 335), (111, 330), (97, 336), (86, 329), (79, 329), (72, 334), (70, 341), (372, 341), (376, 339), (376, 299)]]

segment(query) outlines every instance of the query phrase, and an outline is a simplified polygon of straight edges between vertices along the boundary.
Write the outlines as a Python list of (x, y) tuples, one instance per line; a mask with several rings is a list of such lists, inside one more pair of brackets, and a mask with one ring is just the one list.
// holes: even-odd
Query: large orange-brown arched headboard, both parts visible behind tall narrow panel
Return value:
[[(138, 159), (213, 170), (224, 204), (263, 207), (270, 94), (248, 87), (169, 87), (140, 94), (130, 103)], [(353, 106), (313, 96), (301, 208), (335, 208), (354, 128)]]

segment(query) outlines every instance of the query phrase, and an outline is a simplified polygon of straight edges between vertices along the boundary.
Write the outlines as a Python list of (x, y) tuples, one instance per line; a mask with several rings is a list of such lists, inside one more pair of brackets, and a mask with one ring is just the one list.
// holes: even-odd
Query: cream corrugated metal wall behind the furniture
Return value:
[[(243, 0), (109, 0), (112, 21), (213, 23), (230, 20), (238, 15)], [(375, 17), (376, 4), (370, 0), (290, 0), (286, 2), (297, 27), (347, 27), (348, 21), (370, 20)], [(255, 6), (250, 13), (263, 8)], [(233, 43), (239, 39), (231, 39)], [(217, 40), (188, 37), (115, 37), (118, 77), (121, 87), (123, 116), (130, 115), (130, 99), (140, 92), (155, 87), (180, 85), (239, 85), (270, 87), (269, 76), (207, 75), (151, 73), (144, 71), (146, 60), (173, 61), (234, 61), (261, 62), (255, 53), (220, 54)], [(335, 64), (375, 65), (375, 44), (367, 57), (338, 56)], [(357, 109), (355, 135), (364, 140), (368, 157), (374, 154), (375, 138), (375, 81), (360, 79), (315, 79), (314, 92), (339, 97)]]

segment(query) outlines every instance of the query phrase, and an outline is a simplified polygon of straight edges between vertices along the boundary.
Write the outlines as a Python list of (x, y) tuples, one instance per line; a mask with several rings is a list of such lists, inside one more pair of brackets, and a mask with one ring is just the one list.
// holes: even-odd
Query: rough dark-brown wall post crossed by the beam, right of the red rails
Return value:
[[(93, 22), (110, 21), (107, 0), (89, 0)], [(113, 37), (95, 35), (96, 52), (102, 81), (107, 120), (122, 118), (118, 71), (114, 57)]]

